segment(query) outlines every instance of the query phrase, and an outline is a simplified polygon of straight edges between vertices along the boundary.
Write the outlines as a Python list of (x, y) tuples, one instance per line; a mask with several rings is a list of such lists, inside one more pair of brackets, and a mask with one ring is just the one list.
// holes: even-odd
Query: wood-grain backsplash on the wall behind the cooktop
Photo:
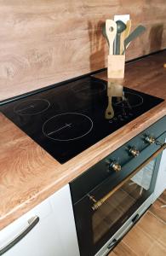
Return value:
[(128, 60), (166, 47), (165, 0), (0, 0), (0, 101), (106, 67), (115, 14), (146, 26)]

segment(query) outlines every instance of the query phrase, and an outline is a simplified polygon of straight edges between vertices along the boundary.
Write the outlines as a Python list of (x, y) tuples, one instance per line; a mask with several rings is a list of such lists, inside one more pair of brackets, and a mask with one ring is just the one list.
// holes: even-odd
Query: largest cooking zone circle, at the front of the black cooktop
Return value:
[(82, 113), (60, 113), (43, 124), (43, 134), (54, 141), (74, 141), (87, 135), (93, 121)]

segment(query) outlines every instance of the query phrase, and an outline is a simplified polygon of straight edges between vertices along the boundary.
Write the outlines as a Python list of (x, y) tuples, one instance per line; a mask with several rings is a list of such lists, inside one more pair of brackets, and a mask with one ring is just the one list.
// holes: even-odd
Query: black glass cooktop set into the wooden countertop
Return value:
[(114, 85), (92, 77), (77, 79), (3, 104), (0, 109), (63, 164), (163, 102)]

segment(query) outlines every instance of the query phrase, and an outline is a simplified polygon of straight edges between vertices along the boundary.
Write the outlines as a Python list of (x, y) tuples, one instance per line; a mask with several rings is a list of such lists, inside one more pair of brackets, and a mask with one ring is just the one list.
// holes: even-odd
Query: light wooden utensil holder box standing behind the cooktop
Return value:
[(108, 79), (123, 79), (125, 55), (108, 55)]

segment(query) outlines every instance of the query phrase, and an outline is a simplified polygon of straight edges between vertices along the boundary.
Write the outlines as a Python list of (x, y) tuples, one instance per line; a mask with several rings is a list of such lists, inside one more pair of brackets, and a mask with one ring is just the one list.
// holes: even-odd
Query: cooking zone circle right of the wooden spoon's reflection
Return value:
[(112, 105), (121, 107), (121, 108), (136, 108), (142, 105), (144, 101), (142, 96), (132, 92), (127, 91), (124, 93), (124, 96), (125, 96), (124, 99), (119, 97), (114, 98), (112, 101)]

